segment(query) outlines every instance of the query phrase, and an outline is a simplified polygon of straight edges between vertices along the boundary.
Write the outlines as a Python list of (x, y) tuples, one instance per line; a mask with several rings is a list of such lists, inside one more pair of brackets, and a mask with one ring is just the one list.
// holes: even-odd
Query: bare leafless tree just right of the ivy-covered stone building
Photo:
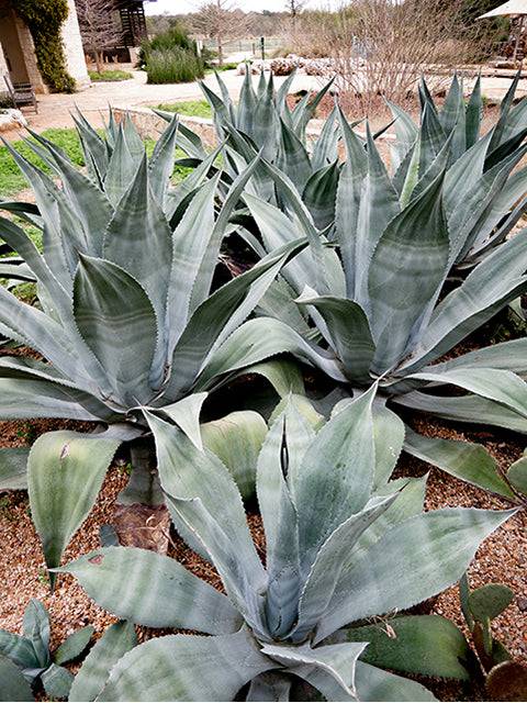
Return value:
[(104, 68), (104, 49), (117, 46), (123, 29), (114, 0), (76, 0), (82, 46), (93, 54), (99, 74)]

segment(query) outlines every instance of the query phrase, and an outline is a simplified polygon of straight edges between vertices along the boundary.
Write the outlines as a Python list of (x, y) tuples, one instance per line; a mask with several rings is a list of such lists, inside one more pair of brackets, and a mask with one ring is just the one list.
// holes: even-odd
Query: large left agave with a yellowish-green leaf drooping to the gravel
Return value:
[[(34, 189), (42, 254), (22, 227), (0, 219), (0, 237), (25, 261), (38, 291), (38, 306), (30, 306), (0, 288), (0, 333), (43, 357), (1, 358), (0, 417), (64, 417), (102, 429), (48, 433), (31, 450), (30, 502), (52, 566), (87, 516), (117, 447), (148, 432), (145, 408), (164, 408), (195, 435), (206, 391), (246, 365), (237, 355), (206, 383), (202, 375), (216, 366), (225, 341), (304, 246), (288, 244), (215, 289), (222, 238), (257, 161), (232, 185), (218, 212), (216, 176), (198, 188), (172, 226), (167, 193), (176, 124), (150, 161), (143, 146), (142, 154), (138, 144), (128, 146), (126, 129), (119, 127), (99, 185), (45, 140), (36, 148), (61, 188), (13, 152)], [(152, 467), (144, 444), (133, 446), (136, 470), (127, 501), (148, 502), (155, 499)], [(18, 476), (20, 455), (0, 455)]]

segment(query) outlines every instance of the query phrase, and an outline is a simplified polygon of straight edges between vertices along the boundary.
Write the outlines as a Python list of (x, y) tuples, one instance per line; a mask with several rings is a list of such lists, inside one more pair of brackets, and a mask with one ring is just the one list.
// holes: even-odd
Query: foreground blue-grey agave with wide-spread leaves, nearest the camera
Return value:
[(120, 617), (212, 635), (136, 647), (98, 701), (283, 701), (302, 680), (329, 701), (434, 700), (421, 684), (363, 662), (367, 639), (332, 637), (456, 582), (514, 511), (423, 514), (424, 480), (386, 482), (402, 423), (384, 409), (373, 420), (373, 399), (374, 389), (318, 433), (292, 400), (276, 420), (257, 468), (266, 567), (226, 468), (149, 413), (172, 518), (214, 565), (225, 595), (173, 559), (134, 548), (99, 549), (58, 569)]

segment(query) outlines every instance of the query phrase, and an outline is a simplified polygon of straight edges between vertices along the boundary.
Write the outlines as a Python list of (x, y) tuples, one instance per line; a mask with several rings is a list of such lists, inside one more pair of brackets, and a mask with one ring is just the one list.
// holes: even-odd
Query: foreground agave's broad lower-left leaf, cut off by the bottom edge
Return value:
[(158, 637), (116, 663), (97, 700), (232, 701), (245, 683), (272, 668), (246, 629), (216, 637)]

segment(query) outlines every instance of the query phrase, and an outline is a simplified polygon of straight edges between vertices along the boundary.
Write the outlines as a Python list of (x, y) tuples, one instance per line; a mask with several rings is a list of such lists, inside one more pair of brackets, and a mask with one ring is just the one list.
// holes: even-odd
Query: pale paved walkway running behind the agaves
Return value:
[[(243, 77), (236, 71), (228, 70), (222, 74), (229, 93), (237, 98), (242, 87)], [(279, 86), (285, 78), (276, 77), (276, 85)], [(209, 75), (205, 78), (206, 85), (217, 90), (215, 77)], [(467, 83), (468, 81), (466, 81)], [(323, 85), (323, 80), (315, 76), (299, 74), (292, 83), (291, 91), (316, 90)], [(485, 77), (482, 78), (483, 94), (493, 100), (500, 100), (511, 85), (507, 77)], [(520, 81), (517, 97), (527, 94), (527, 79)], [(162, 86), (149, 86), (146, 83), (144, 71), (133, 71), (131, 80), (120, 82), (92, 83), (90, 88), (72, 96), (48, 94), (38, 97), (38, 114), (27, 113), (30, 126), (33, 130), (42, 131), (48, 127), (71, 126), (70, 112), (77, 105), (96, 126), (102, 125), (102, 114), (109, 104), (119, 107), (147, 107), (161, 102), (179, 102), (182, 100), (201, 100), (203, 98), (200, 86), (192, 83), (176, 83)], [(19, 131), (4, 132), (2, 136), (18, 138)]]

